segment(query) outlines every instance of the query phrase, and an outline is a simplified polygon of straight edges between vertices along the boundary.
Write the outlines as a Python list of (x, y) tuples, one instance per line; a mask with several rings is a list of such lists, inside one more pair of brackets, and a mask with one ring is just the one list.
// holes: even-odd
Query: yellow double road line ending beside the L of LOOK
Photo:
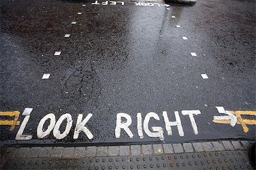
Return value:
[(0, 111), (0, 116), (9, 116), (14, 117), (13, 121), (1, 121), (0, 120), (0, 126), (11, 126), (9, 131), (13, 131), (15, 126), (19, 125), (20, 121), (18, 121), (19, 118), (19, 111)]

